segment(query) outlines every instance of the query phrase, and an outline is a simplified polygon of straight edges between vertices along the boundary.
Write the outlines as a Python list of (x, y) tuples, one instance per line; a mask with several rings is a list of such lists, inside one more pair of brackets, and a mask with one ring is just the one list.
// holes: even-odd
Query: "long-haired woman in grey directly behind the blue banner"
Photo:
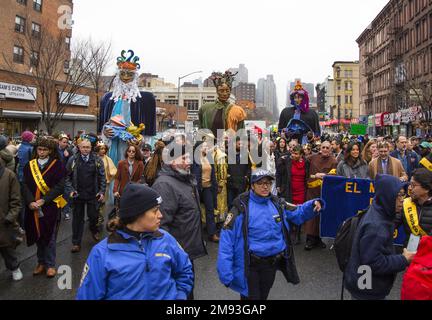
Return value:
[(360, 155), (360, 143), (352, 142), (345, 152), (345, 159), (339, 162), (337, 175), (348, 179), (368, 179), (369, 165)]

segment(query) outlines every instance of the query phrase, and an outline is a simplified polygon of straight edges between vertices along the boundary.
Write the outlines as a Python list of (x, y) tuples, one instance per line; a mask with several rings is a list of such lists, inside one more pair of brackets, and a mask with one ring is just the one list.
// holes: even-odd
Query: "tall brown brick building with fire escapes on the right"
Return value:
[(378, 133), (415, 133), (432, 93), (432, 1), (389, 1), (357, 43), (361, 114)]

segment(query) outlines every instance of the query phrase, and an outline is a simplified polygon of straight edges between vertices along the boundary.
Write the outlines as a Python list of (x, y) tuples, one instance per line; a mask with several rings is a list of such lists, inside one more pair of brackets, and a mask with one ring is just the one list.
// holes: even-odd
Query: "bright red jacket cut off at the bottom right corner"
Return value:
[(417, 254), (405, 273), (402, 300), (432, 300), (432, 237), (424, 236)]

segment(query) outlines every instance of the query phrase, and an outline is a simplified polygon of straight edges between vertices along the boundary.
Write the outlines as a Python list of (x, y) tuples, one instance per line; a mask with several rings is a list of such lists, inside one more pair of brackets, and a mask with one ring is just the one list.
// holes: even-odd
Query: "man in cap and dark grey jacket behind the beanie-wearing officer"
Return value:
[[(194, 260), (207, 255), (202, 237), (200, 197), (191, 174), (190, 154), (186, 146), (171, 143), (164, 165), (152, 188), (164, 199), (161, 204), (161, 228), (169, 232)], [(193, 289), (189, 296), (193, 300)]]

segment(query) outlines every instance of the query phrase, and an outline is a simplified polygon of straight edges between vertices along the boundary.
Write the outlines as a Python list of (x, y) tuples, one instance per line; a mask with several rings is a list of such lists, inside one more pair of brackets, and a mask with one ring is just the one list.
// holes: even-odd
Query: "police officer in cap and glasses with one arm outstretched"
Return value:
[(252, 175), (252, 190), (234, 201), (221, 233), (219, 279), (243, 300), (266, 300), (277, 270), (289, 283), (300, 282), (288, 236), (289, 222), (302, 225), (325, 205), (322, 199), (290, 205), (271, 195), (273, 180), (264, 170)]

